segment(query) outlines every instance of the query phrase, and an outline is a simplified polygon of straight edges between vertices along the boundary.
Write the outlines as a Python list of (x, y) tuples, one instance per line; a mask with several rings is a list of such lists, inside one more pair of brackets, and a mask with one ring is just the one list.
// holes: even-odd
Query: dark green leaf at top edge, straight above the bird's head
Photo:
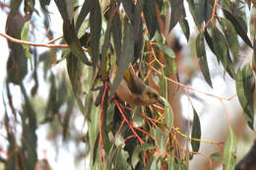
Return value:
[(156, 31), (160, 29), (155, 1), (144, 3), (143, 14), (145, 15), (146, 25), (150, 32), (150, 39), (152, 39)]

